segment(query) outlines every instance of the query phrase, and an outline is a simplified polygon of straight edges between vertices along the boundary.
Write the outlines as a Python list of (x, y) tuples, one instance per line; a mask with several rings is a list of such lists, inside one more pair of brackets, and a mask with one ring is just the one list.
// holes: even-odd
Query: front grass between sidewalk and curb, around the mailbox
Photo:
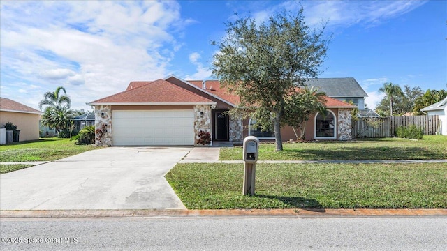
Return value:
[(178, 164), (166, 179), (189, 209), (447, 208), (445, 163), (258, 164), (255, 196), (242, 164)]

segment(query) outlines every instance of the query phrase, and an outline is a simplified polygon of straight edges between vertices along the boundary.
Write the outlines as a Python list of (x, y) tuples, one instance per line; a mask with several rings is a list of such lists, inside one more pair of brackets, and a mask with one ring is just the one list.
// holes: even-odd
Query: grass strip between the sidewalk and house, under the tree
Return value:
[[(359, 139), (352, 142), (261, 144), (259, 160), (430, 160), (447, 158), (447, 136), (422, 140), (398, 138)], [(241, 160), (242, 147), (221, 148), (220, 160)]]

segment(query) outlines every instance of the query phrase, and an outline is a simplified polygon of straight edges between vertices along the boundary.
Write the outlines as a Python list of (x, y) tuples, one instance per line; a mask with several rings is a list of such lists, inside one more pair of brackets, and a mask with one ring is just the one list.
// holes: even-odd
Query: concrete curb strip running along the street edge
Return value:
[(447, 209), (2, 210), (0, 218), (447, 216)]

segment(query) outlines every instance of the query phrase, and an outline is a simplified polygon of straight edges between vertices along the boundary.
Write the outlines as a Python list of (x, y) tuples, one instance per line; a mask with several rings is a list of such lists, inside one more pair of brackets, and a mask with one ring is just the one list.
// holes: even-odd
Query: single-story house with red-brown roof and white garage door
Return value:
[[(350, 140), (351, 109), (356, 106), (326, 100), (328, 114), (309, 119), (306, 138)], [(248, 135), (274, 139), (273, 132), (253, 128), (255, 121), (226, 114), (238, 102), (217, 80), (186, 81), (170, 75), (131, 82), (125, 91), (87, 105), (95, 109), (98, 145), (197, 145), (200, 132), (209, 132), (212, 141), (242, 142)], [(291, 127), (282, 128), (281, 136), (296, 139)]]

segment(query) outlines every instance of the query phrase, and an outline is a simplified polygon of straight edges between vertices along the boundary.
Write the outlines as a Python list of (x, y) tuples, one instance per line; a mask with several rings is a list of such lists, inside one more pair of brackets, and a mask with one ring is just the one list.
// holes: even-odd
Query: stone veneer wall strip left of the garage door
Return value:
[[(98, 139), (98, 129), (103, 130), (101, 139)], [(112, 109), (108, 105), (95, 106), (95, 144), (112, 146)]]

